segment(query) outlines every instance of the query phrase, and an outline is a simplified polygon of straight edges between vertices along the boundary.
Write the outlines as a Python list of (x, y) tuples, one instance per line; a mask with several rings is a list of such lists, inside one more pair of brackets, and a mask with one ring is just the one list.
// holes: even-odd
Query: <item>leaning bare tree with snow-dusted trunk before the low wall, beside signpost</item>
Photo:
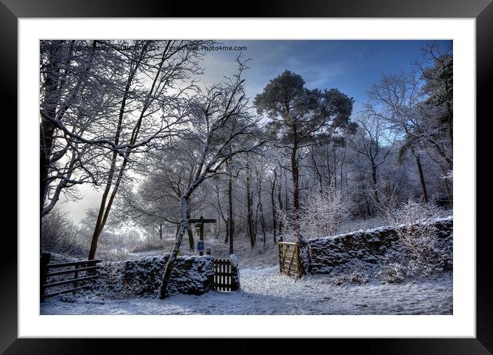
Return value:
[[(238, 59), (238, 74), (224, 83), (199, 92), (193, 105), (191, 127), (183, 135), (185, 140), (200, 144), (200, 159), (191, 184), (180, 198), (180, 230), (166, 263), (160, 298), (167, 296), (167, 286), (183, 235), (188, 226), (187, 203), (194, 191), (206, 180), (220, 173), (220, 168), (235, 155), (258, 151), (264, 142), (258, 140), (258, 118), (249, 113), (244, 94), (242, 72), (244, 62)], [(246, 139), (245, 139), (246, 138)]]

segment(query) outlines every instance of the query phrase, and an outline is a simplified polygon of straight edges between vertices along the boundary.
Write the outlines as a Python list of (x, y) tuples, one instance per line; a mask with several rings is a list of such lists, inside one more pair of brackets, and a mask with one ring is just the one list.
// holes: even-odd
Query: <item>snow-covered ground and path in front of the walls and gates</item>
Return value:
[(47, 299), (41, 314), (452, 314), (452, 278), (333, 286), (328, 275), (295, 280), (277, 266), (242, 268), (242, 291), (176, 294), (165, 300)]

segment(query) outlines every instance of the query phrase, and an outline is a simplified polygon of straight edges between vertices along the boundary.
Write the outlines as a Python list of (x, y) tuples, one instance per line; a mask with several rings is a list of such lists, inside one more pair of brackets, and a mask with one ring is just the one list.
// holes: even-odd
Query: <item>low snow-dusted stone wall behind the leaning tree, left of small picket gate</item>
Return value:
[[(92, 288), (96, 294), (107, 297), (154, 297), (158, 294), (162, 274), (169, 259), (149, 256), (125, 261), (101, 263), (101, 277)], [(203, 294), (213, 290), (214, 266), (210, 255), (176, 257), (169, 293)]]

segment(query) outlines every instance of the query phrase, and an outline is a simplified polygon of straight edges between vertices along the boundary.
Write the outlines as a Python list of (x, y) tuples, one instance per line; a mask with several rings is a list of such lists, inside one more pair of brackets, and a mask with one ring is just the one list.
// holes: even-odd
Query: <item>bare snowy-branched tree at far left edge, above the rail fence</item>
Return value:
[[(121, 153), (101, 121), (115, 113), (122, 62), (101, 41), (40, 43), (40, 213), (74, 187), (100, 184), (109, 150)], [(101, 151), (103, 149), (103, 151)]]

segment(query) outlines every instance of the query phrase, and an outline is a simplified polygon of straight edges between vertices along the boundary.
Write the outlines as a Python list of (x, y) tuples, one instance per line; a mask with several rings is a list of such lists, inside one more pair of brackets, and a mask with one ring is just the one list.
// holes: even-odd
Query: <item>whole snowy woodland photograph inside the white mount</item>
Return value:
[(453, 314), (452, 78), (452, 41), (40, 41), (40, 314)]

